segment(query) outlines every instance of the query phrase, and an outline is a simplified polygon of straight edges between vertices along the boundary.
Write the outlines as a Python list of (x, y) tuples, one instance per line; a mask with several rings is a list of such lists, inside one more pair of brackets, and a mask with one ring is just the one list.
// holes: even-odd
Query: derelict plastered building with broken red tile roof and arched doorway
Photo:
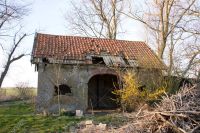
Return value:
[(116, 69), (133, 69), (145, 84), (165, 68), (144, 42), (41, 33), (35, 35), (31, 63), (38, 71), (37, 110), (50, 112), (58, 106), (68, 111), (116, 108)]

